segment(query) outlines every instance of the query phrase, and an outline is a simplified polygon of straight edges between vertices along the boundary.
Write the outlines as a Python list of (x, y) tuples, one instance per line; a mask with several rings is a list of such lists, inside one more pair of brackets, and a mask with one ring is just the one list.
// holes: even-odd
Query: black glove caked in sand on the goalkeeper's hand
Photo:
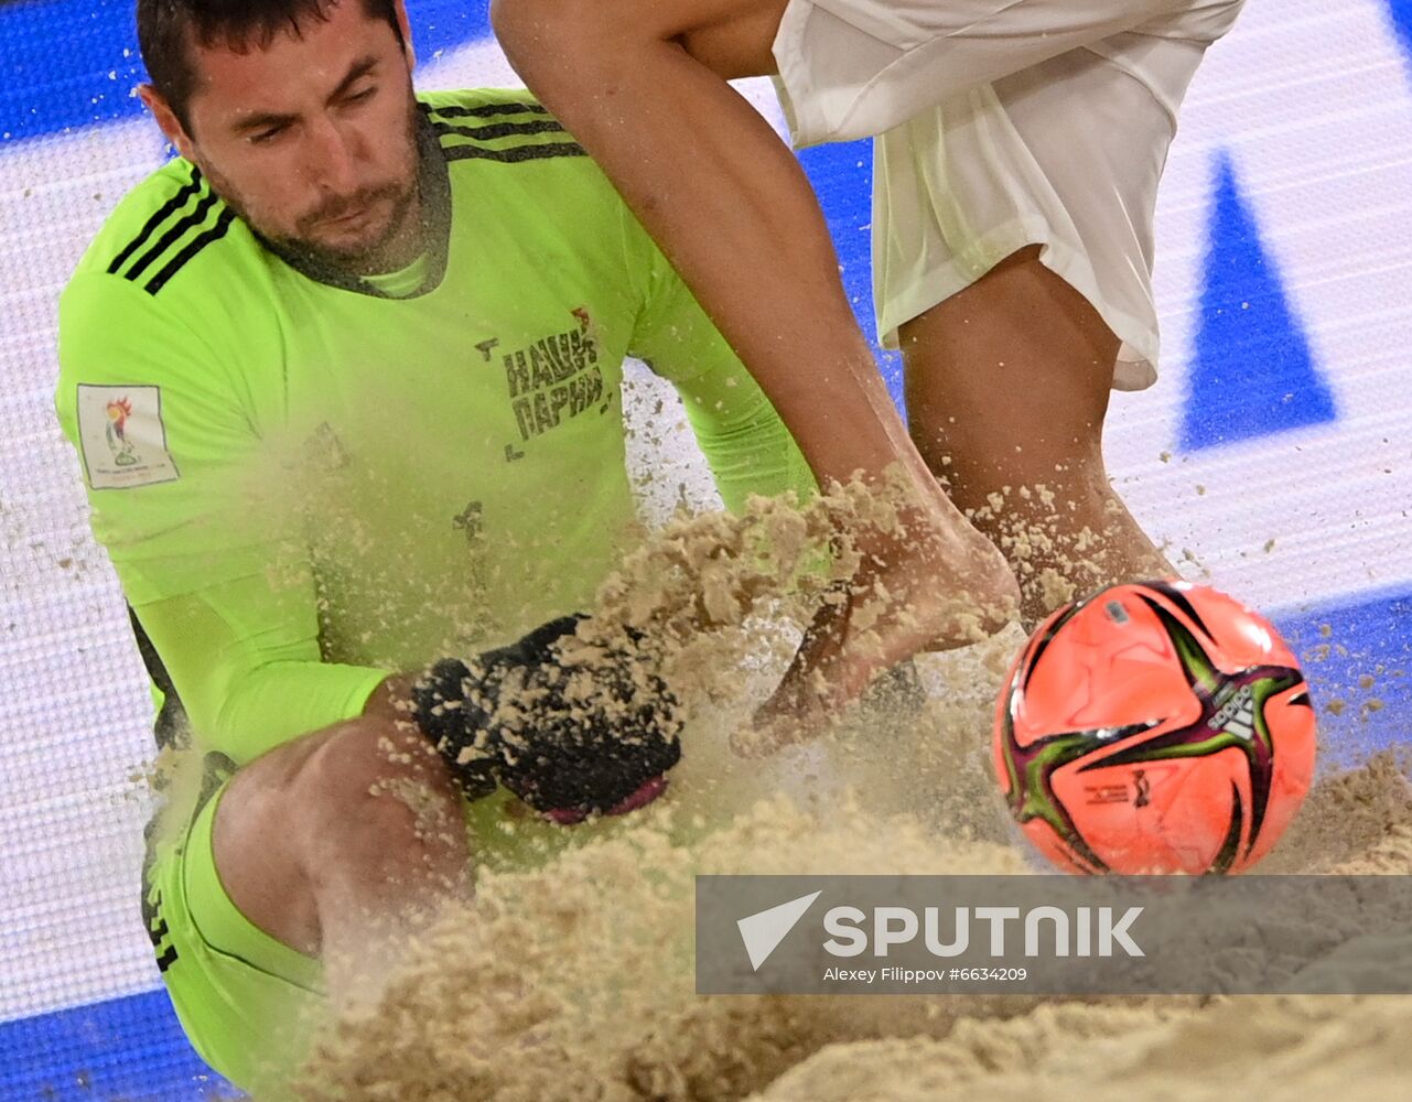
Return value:
[(583, 617), (551, 621), (470, 665), (442, 659), (412, 691), (414, 717), (467, 799), (497, 782), (559, 823), (655, 799), (681, 759), (676, 698), (640, 639), (568, 666), (556, 646)]

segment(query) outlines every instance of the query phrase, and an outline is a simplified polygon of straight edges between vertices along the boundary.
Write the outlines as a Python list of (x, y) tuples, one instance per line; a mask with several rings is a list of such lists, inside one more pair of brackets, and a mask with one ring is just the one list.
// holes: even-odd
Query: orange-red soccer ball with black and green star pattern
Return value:
[(1019, 652), (994, 758), (1010, 813), (1066, 871), (1243, 872), (1309, 790), (1315, 713), (1293, 653), (1234, 598), (1113, 586)]

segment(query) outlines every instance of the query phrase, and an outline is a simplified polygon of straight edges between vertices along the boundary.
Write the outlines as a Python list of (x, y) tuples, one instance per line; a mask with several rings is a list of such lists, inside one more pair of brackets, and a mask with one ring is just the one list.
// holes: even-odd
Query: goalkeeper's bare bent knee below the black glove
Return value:
[(378, 717), (244, 766), (216, 809), (213, 848), (240, 913), (322, 957), (342, 1003), (376, 995), (397, 943), (467, 889), (445, 766), (421, 734)]

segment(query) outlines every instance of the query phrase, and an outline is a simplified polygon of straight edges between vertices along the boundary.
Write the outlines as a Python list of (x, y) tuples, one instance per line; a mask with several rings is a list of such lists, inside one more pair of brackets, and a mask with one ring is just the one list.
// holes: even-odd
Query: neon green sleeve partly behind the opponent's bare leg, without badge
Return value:
[(726, 508), (738, 512), (755, 494), (810, 497), (813, 474), (770, 398), (641, 226), (623, 217), (641, 303), (628, 351), (681, 394)]

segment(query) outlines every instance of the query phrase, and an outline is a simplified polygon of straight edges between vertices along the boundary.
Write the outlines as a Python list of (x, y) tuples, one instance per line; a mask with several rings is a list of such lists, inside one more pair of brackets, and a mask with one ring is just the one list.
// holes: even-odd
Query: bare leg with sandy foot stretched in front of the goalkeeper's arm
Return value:
[(851, 605), (826, 608), (786, 677), (781, 707), (818, 711), (928, 643), (997, 629), (1017, 590), (908, 439), (798, 161), (722, 79), (772, 69), (782, 10), (784, 0), (500, 0), (491, 14), (520, 75), (664, 243), (820, 484), (856, 471), (878, 483), (892, 464), (905, 473), (907, 536), (874, 538), (867, 549), (877, 557), (858, 579), (888, 594), (877, 635), (854, 646)]

